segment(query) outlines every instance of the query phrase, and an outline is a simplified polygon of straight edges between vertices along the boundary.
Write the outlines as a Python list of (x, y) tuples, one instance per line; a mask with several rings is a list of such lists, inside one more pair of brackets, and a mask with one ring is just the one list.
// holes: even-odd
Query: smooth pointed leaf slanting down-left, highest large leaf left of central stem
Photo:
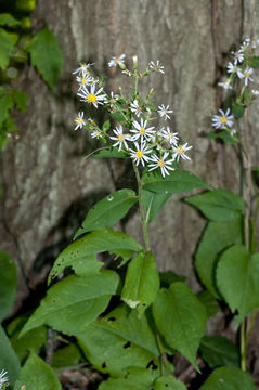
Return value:
[(119, 190), (106, 196), (89, 210), (74, 238), (93, 230), (112, 226), (124, 218), (137, 202), (138, 196), (132, 190)]

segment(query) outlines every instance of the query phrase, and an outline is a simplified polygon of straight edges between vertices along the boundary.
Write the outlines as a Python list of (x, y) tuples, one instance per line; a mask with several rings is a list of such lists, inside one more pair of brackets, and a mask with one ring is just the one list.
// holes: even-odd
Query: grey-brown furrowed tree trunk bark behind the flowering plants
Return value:
[[(255, 2), (256, 3), (256, 2)], [(94, 62), (101, 74), (109, 73), (109, 88), (127, 89), (119, 70), (107, 69), (116, 54), (137, 54), (141, 66), (151, 60), (165, 65), (165, 76), (143, 81), (154, 88), (157, 104), (173, 108), (173, 130), (193, 145), (192, 162), (184, 167), (215, 187), (238, 191), (238, 162), (231, 147), (200, 136), (222, 101), (217, 89), (223, 54), (258, 26), (259, 10), (251, 0), (39, 0), (33, 15), (34, 29), (42, 22), (57, 36), (65, 69), (54, 91), (28, 68), (24, 89), (28, 113), (18, 118), (21, 139), (10, 143), (1, 157), (4, 192), (0, 246), (23, 264), (26, 277), (46, 275), (70, 239), (89, 207), (105, 194), (131, 185), (121, 161), (88, 159), (94, 143), (75, 133), (78, 112), (72, 70), (80, 61)], [(255, 34), (259, 32), (255, 28)], [(259, 35), (258, 35), (259, 36)], [(254, 165), (259, 160), (258, 113), (252, 125)], [(150, 225), (151, 245), (160, 270), (187, 276), (197, 288), (193, 253), (205, 221), (173, 196)], [(140, 221), (133, 214), (125, 225), (137, 239)]]

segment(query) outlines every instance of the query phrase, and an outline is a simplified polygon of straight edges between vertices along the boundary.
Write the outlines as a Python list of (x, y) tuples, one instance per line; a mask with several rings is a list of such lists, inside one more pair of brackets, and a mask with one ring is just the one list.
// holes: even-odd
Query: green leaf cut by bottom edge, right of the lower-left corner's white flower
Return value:
[(18, 379), (28, 390), (62, 389), (51, 366), (34, 353), (21, 369)]

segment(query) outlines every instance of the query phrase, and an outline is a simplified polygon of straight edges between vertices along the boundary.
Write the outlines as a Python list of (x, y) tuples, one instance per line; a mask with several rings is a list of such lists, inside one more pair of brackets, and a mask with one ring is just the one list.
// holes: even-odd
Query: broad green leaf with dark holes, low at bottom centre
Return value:
[(77, 338), (89, 361), (99, 370), (114, 376), (127, 374), (130, 366), (146, 367), (159, 355), (145, 314), (139, 318), (137, 311), (126, 306), (89, 324)]

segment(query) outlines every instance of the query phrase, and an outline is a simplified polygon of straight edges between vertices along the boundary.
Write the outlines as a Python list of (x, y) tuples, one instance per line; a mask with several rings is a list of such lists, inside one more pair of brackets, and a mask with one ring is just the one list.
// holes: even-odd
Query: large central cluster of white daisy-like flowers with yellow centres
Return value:
[(111, 146), (122, 153), (125, 157), (131, 157), (133, 162), (143, 167), (147, 166), (150, 171), (159, 169), (163, 177), (170, 174), (170, 171), (176, 169), (176, 162), (182, 159), (189, 159), (186, 152), (192, 147), (187, 143), (179, 143), (179, 135), (172, 132), (169, 126), (158, 127), (159, 118), (165, 121), (170, 119), (173, 110), (169, 105), (155, 106), (151, 89), (146, 100), (142, 100), (138, 91), (138, 80), (151, 73), (164, 74), (164, 66), (159, 61), (151, 61), (145, 70), (140, 73), (138, 70), (138, 58), (133, 57), (133, 70), (127, 68), (125, 64), (126, 55), (113, 57), (108, 62), (108, 67), (116, 67), (117, 65), (122, 69), (122, 73), (128, 77), (134, 77), (134, 93), (127, 99), (122, 94), (121, 89), (119, 93), (106, 93), (103, 90), (103, 84), (99, 78), (91, 75), (90, 67), (92, 64), (80, 64), (74, 74), (79, 83), (78, 96), (80, 101), (88, 103), (95, 108), (100, 105), (118, 121), (109, 131), (111, 123), (106, 121), (103, 128), (100, 128), (93, 119), (83, 119), (83, 112), (79, 112), (75, 119), (76, 127), (91, 131), (91, 136), (101, 139), (104, 142), (109, 141)]

